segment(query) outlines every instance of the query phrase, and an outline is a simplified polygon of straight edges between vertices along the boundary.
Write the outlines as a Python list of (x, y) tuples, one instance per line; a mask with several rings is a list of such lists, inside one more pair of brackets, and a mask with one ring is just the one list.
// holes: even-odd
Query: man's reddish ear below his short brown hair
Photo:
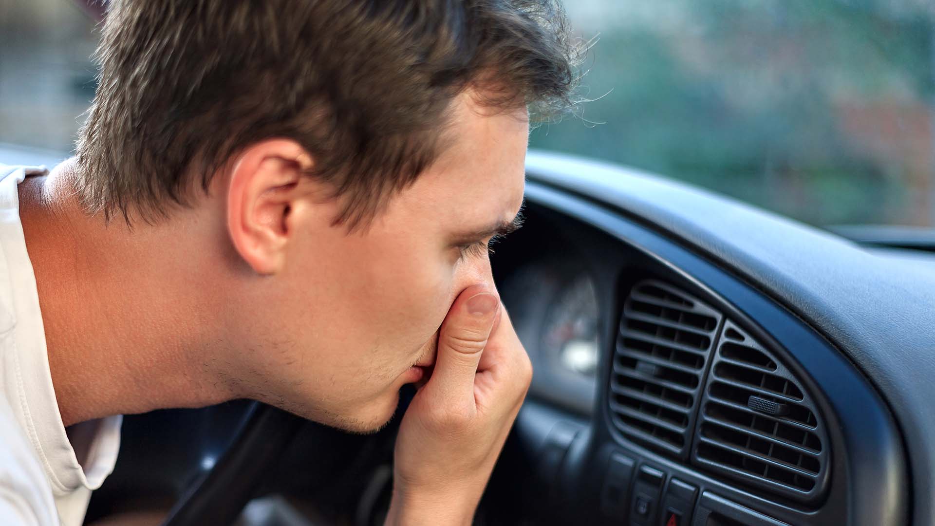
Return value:
[(311, 156), (294, 140), (268, 139), (241, 152), (229, 172), (227, 230), (237, 253), (260, 274), (285, 262), (293, 236), (290, 213)]

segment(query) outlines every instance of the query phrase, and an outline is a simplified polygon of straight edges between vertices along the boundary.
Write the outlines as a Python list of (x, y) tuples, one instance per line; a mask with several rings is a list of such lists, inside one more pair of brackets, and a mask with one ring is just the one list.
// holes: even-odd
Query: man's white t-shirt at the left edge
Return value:
[[(0, 524), (79, 526), (117, 461), (122, 416), (62, 424), (17, 192), (46, 173), (0, 165)], [(83, 459), (69, 434), (87, 441), (76, 442)]]

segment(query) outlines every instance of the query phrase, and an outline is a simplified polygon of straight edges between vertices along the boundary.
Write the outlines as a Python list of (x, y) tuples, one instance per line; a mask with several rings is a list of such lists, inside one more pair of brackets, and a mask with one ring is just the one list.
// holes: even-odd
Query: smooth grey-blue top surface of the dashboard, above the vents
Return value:
[(882, 394), (911, 461), (913, 523), (935, 521), (935, 272), (683, 184), (530, 153), (529, 180), (599, 203), (800, 316)]

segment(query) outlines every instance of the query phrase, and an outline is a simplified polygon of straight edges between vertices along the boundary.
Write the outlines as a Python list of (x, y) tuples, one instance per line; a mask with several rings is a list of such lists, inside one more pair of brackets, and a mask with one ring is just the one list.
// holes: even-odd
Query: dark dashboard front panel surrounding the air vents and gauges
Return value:
[[(530, 272), (527, 270), (537, 269), (534, 273), (539, 279), (539, 288), (549, 288), (549, 282), (553, 280), (541, 279), (540, 276), (549, 276), (550, 272), (538, 270), (543, 264), (553, 267), (552, 274), (570, 274), (566, 276), (566, 282), (575, 281), (575, 272), (586, 270), (596, 285), (602, 328), (601, 365), (595, 384), (597, 401), (593, 410), (585, 414), (574, 413), (578, 404), (556, 402), (555, 394), (568, 396), (568, 392), (559, 388), (557, 375), (540, 376), (542, 366), (547, 366), (541, 360), (541, 354), (548, 348), (537, 348), (536, 340), (524, 341), (538, 368), (530, 389), (531, 398), (526, 402), (517, 425), (517, 432), (525, 441), (525, 445), (518, 449), (539, 455), (531, 464), (543, 474), (540, 478), (553, 481), (554, 486), (537, 490), (528, 502), (537, 502), (541, 491), (548, 491), (552, 502), (564, 500), (567, 503), (565, 512), (574, 510), (572, 515), (559, 520), (552, 516), (540, 518), (542, 523), (585, 520), (597, 524), (615, 523), (614, 520), (623, 520), (627, 515), (632, 518), (632, 511), (624, 508), (608, 511), (606, 503), (597, 502), (595, 497), (605, 492), (606, 482), (603, 481), (605, 476), (609, 476), (605, 475), (609, 462), (620, 455), (633, 460), (634, 466), (640, 469), (645, 467), (665, 474), (664, 479), (669, 484), (678, 479), (680, 483), (695, 486), (699, 489), (699, 498), (705, 495), (726, 497), (722, 500), (744, 505), (787, 524), (826, 524), (838, 520), (849, 524), (902, 523), (907, 513), (907, 499), (899, 432), (885, 403), (840, 352), (759, 291), (730, 278), (723, 269), (712, 266), (679, 244), (622, 217), (618, 212), (597, 207), (580, 197), (535, 181), (527, 184), (526, 199), (528, 226), (514, 234), (516, 239), (497, 249), (495, 271), (503, 272), (506, 268), (507, 273), (528, 278)], [(746, 319), (746, 327), (763, 327), (776, 336), (778, 345), (789, 350), (790, 359), (798, 365), (798, 372), (813, 378), (814, 383), (809, 389), (821, 393), (824, 395), (822, 398), (829, 402), (823, 402), (820, 411), (831, 430), (834, 449), (833, 469), (828, 474), (832, 484), (825, 498), (818, 498), (810, 504), (793, 503), (770, 490), (753, 489), (749, 484), (726, 480), (724, 476), (698, 466), (694, 449), (689, 462), (687, 457), (679, 459), (671, 454), (656, 454), (658, 451), (620, 436), (619, 426), (612, 422), (614, 411), (608, 411), (613, 396), (608, 391), (608, 378), (611, 373), (616, 373), (617, 367), (617, 358), (611, 359), (611, 355), (616, 357), (619, 354), (614, 351), (619, 345), (615, 343), (615, 334), (618, 324), (623, 323), (620, 313), (626, 289), (645, 276), (681, 286), (683, 290), (696, 291), (697, 298), (708, 298), (711, 304), (722, 305), (722, 312), (731, 320)], [(517, 329), (525, 330), (523, 326), (530, 317), (525, 312), (528, 304), (535, 304), (542, 297), (537, 291), (531, 295), (531, 300), (524, 299), (534, 287), (527, 286), (524, 292), (515, 290), (514, 283), (507, 279), (501, 285), (501, 294), (511, 309)], [(554, 300), (560, 297), (556, 295)], [(718, 297), (722, 298), (720, 302)], [(728, 303), (736, 305), (736, 308)], [(749, 318), (745, 317), (746, 314)], [(542, 332), (548, 333), (548, 330)], [(764, 337), (769, 338), (768, 335)], [(541, 381), (539, 386), (538, 380)], [(561, 409), (563, 406), (564, 411)], [(698, 445), (698, 439), (695, 438), (693, 443)], [(564, 452), (566, 449), (567, 453)], [(505, 452), (504, 458), (510, 456)], [(554, 459), (563, 456), (565, 460), (559, 462), (561, 467), (555, 467), (557, 460)], [(634, 484), (637, 484), (636, 478)], [(522, 482), (513, 484), (516, 485), (522, 485)], [(635, 494), (626, 484), (624, 488), (622, 499)], [(706, 498), (705, 502), (708, 501)], [(714, 502), (720, 501), (711, 501)], [(535, 507), (526, 506), (527, 509)], [(698, 504), (698, 509), (702, 508), (704, 506)], [(561, 510), (555, 513), (561, 513)], [(654, 513), (650, 512), (650, 516)], [(737, 523), (751, 523), (749, 520), (744, 518)]]

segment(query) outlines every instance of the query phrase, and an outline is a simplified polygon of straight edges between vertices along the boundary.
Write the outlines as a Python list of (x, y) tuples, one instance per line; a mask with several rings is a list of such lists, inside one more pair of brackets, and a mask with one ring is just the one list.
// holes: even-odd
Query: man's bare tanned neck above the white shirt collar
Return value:
[[(206, 313), (218, 313), (178, 230), (131, 230), (84, 213), (69, 161), (20, 188), (20, 216), (36, 288), (52, 384), (65, 426), (163, 407), (234, 398), (210, 375)], [(193, 265), (194, 263), (194, 265)], [(197, 351), (197, 352), (196, 352)]]

